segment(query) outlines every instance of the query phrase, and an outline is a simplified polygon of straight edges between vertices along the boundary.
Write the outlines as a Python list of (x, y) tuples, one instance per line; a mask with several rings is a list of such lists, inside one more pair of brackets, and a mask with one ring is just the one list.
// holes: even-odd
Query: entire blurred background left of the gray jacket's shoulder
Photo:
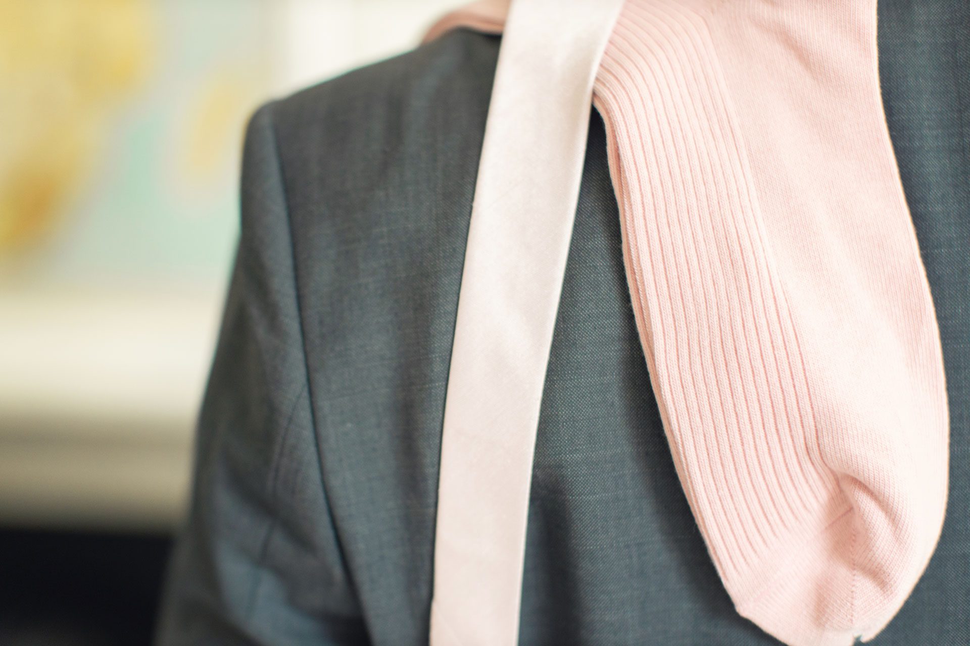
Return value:
[(0, 0), (0, 645), (150, 640), (269, 98), (456, 0)]

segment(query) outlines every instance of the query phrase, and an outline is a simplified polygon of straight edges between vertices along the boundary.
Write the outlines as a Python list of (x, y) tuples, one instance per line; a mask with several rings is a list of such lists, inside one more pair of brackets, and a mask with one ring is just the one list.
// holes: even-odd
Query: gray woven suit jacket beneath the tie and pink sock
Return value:
[[(917, 8), (916, 5), (919, 5)], [(949, 514), (878, 646), (970, 644), (970, 9), (880, 3), (946, 359)], [(159, 644), (427, 643), (437, 460), (499, 40), (456, 31), (261, 108)], [(594, 114), (535, 448), (523, 644), (777, 643), (674, 473)]]

